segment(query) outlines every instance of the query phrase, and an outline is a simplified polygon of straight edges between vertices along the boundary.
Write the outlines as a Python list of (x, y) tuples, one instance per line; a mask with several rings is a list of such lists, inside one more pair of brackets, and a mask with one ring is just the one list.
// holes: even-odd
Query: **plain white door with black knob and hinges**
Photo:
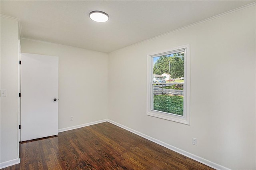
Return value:
[(58, 57), (21, 54), (21, 141), (58, 134)]

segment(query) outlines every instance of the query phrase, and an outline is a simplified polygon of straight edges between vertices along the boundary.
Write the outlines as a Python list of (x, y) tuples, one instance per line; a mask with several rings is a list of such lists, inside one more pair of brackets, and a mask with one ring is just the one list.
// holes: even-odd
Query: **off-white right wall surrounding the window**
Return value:
[[(255, 19), (253, 6), (109, 53), (108, 119), (221, 166), (256, 169)], [(147, 116), (146, 55), (186, 44), (190, 125)]]

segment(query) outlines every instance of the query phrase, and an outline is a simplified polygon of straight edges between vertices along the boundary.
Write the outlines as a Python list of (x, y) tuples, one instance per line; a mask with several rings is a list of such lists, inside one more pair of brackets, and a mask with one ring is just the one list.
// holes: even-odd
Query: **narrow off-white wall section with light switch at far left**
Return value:
[[(18, 162), (18, 21), (1, 16), (0, 166)], [(13, 163), (14, 163), (13, 162)]]

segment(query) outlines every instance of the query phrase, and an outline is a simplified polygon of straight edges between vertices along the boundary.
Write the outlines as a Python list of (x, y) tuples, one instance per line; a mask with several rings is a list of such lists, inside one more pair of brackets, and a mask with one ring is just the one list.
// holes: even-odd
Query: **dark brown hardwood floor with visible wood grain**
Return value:
[(3, 170), (212, 170), (108, 122), (22, 142), (20, 158)]

